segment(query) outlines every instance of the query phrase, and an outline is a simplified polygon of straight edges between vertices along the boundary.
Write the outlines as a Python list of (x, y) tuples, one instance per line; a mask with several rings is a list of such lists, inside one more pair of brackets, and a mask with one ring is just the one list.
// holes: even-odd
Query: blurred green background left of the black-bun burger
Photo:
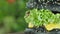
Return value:
[(22, 32), (27, 27), (24, 20), (28, 0), (0, 0), (0, 34)]

